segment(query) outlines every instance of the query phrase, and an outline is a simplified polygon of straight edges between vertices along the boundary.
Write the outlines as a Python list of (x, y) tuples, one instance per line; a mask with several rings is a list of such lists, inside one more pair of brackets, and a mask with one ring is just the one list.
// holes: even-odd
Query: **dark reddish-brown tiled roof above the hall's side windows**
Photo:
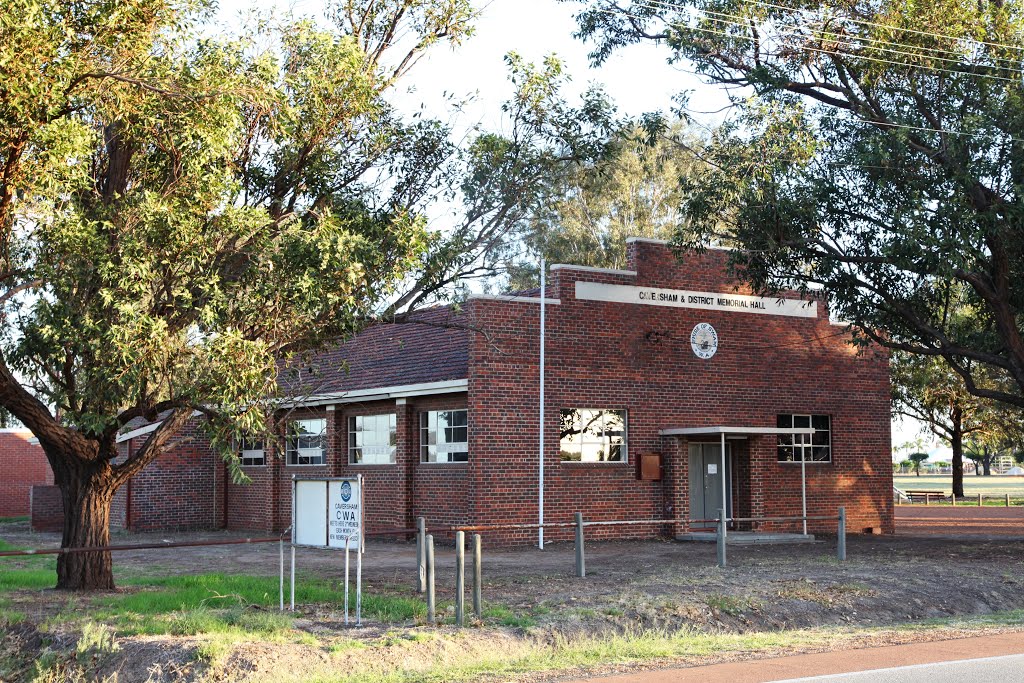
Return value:
[(466, 379), (470, 333), (459, 325), (463, 316), (447, 307), (375, 325), (308, 361), (291, 362), (279, 381), (286, 395), (298, 397)]

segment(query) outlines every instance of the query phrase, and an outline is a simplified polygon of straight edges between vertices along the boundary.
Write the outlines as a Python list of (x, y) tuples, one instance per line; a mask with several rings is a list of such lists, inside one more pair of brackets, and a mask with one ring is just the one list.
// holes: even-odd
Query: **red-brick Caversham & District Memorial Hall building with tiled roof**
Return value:
[[(691, 520), (714, 516), (723, 500), (730, 516), (794, 515), (803, 469), (808, 514), (845, 505), (851, 530), (892, 532), (885, 352), (851, 346), (821, 300), (744, 294), (727, 256), (679, 262), (664, 243), (632, 240), (629, 269), (551, 267), (546, 520), (577, 511), (674, 520), (602, 527), (650, 536), (700, 528)], [(280, 531), (291, 522), (293, 475), (358, 473), (371, 529), (409, 527), (420, 515), (428, 524), (536, 522), (540, 302), (536, 291), (475, 297), (315, 356), (288, 379), (280, 442), (240, 444), (251, 482), (230, 482), (197, 437), (139, 474), (115, 519)], [(125, 446), (137, 447), (146, 429), (125, 434)]]

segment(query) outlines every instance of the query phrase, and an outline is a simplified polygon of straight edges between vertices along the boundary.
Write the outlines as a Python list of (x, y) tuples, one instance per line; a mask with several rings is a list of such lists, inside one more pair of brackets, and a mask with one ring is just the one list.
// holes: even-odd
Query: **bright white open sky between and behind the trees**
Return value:
[[(296, 15), (322, 16), (324, 0), (221, 0), (216, 23), (237, 27), (245, 12), (256, 9), (291, 11)], [(485, 129), (500, 129), (501, 104), (511, 93), (504, 61), (510, 51), (527, 61), (540, 63), (555, 53), (570, 77), (567, 95), (577, 95), (592, 83), (601, 84), (616, 103), (621, 114), (639, 117), (648, 112), (670, 112), (673, 95), (690, 91), (692, 111), (716, 112), (727, 103), (724, 93), (701, 83), (695, 76), (667, 63), (669, 50), (657, 45), (637, 45), (616, 51), (599, 68), (587, 58), (590, 46), (573, 38), (573, 15), (582, 7), (575, 2), (556, 0), (493, 0), (482, 5), (476, 33), (457, 49), (429, 52), (408, 76), (407, 87), (392, 100), (410, 113), (423, 106), (428, 116), (450, 120), (449, 97), (473, 101), (458, 115), (459, 127), (479, 124)], [(696, 115), (696, 120), (711, 125), (721, 115)], [(892, 443), (904, 444), (920, 437), (921, 424), (894, 421)], [(948, 458), (948, 449), (930, 442), (924, 450), (934, 453), (932, 460)]]

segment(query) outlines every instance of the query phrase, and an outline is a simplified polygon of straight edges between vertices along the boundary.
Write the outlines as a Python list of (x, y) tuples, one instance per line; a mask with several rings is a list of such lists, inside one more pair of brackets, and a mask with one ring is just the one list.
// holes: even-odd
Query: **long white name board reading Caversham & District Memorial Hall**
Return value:
[(818, 304), (816, 301), (756, 297), (744, 294), (721, 294), (718, 292), (669, 290), (657, 287), (634, 287), (632, 285), (606, 285), (604, 283), (577, 282), (575, 297), (577, 299), (587, 299), (590, 301), (638, 303), (649, 306), (699, 308), (701, 310), (727, 310), (765, 315), (790, 315), (792, 317), (817, 317), (818, 314)]

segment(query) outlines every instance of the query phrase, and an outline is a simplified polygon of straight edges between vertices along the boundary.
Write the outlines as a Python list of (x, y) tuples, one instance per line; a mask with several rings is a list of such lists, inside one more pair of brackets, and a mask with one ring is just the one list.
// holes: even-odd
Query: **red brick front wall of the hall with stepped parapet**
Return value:
[[(711, 250), (680, 265), (665, 246), (635, 242), (636, 276), (554, 271), (548, 296), (561, 303), (547, 307), (546, 520), (567, 521), (577, 511), (593, 520), (685, 518), (686, 443), (664, 438), (659, 430), (774, 427), (778, 413), (811, 413), (831, 416), (834, 457), (830, 464), (807, 467), (809, 514), (836, 514), (845, 504), (851, 530), (881, 526), (891, 532), (887, 357), (873, 348), (858, 354), (842, 328), (829, 325), (823, 302), (816, 318), (802, 318), (575, 300), (577, 280), (743, 293), (727, 278), (726, 258), (727, 252)], [(488, 333), (471, 338), (470, 511), (479, 523), (532, 522), (539, 306), (478, 299), (467, 310)], [(711, 323), (719, 335), (718, 352), (708, 360), (690, 349), (697, 323)], [(630, 462), (561, 463), (562, 408), (626, 409)], [(799, 514), (799, 464), (776, 462), (774, 436), (738, 443), (735, 513)], [(635, 459), (648, 451), (667, 458), (670, 476), (664, 482), (636, 479)], [(835, 522), (812, 528), (834, 530)], [(625, 536), (639, 529), (620, 530)], [(536, 532), (519, 538), (536, 539)]]

